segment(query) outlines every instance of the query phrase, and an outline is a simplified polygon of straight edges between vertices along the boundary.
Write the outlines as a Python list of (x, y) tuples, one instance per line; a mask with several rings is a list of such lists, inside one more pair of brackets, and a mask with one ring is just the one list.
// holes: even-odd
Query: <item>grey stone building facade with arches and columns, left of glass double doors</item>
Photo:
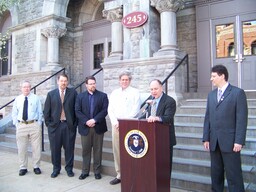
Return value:
[[(148, 14), (147, 23), (125, 28), (124, 15), (138, 10)], [(118, 87), (119, 73), (128, 69), (133, 74), (132, 84), (148, 93), (149, 82), (154, 78), (163, 80), (186, 53), (190, 59), (190, 86), (196, 91), (195, 7), (186, 7), (184, 1), (23, 0), (5, 15), (11, 18), (8, 27), (12, 36), (8, 74), (0, 77), (0, 105), (19, 94), (19, 82), (24, 79), (36, 85), (66, 68), (70, 83), (75, 86), (92, 74), (95, 70), (85, 58), (86, 52), (91, 52), (85, 49), (85, 30), (98, 25), (107, 25), (112, 33), (107, 37), (112, 50), (101, 64), (103, 72), (99, 75), (103, 91), (110, 93)], [(3, 18), (1, 22), (4, 23)], [(165, 30), (173, 33), (172, 39), (161, 33), (166, 24)], [(176, 98), (181, 98), (185, 89), (182, 73), (177, 72), (169, 82), (169, 93)], [(37, 94), (43, 100), (55, 86), (55, 79), (47, 81), (38, 86)]]

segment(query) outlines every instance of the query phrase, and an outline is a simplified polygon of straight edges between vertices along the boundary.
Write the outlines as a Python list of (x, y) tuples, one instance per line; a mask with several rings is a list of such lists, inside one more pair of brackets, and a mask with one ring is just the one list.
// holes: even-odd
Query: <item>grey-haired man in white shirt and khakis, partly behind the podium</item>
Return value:
[(130, 86), (131, 79), (130, 72), (121, 73), (119, 75), (120, 88), (114, 90), (109, 99), (108, 114), (112, 124), (112, 147), (117, 173), (116, 178), (110, 181), (111, 185), (121, 182), (118, 119), (133, 118), (140, 109), (139, 90)]

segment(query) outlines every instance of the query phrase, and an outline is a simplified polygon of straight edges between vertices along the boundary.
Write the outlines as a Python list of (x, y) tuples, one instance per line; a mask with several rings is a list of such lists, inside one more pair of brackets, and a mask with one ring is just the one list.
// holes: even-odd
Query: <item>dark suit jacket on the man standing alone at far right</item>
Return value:
[(211, 91), (207, 99), (203, 141), (210, 142), (214, 151), (217, 142), (223, 152), (232, 152), (234, 143), (244, 145), (247, 129), (247, 100), (245, 92), (228, 85), (220, 102), (217, 90)]

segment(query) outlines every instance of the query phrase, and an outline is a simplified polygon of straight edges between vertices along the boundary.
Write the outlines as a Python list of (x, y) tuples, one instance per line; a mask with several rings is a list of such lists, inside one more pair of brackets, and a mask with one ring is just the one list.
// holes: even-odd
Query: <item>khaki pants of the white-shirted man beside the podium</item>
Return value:
[(119, 131), (112, 126), (112, 148), (115, 162), (115, 170), (117, 173), (116, 178), (121, 179), (121, 170), (120, 170), (120, 146), (119, 146)]

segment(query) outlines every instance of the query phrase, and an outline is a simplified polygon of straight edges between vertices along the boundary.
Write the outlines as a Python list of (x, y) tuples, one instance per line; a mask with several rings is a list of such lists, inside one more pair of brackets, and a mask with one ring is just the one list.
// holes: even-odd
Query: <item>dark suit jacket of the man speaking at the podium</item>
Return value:
[[(149, 115), (151, 108), (148, 109)], [(169, 95), (163, 93), (156, 111), (156, 116), (162, 119), (162, 123), (169, 124), (170, 128), (170, 144), (176, 145), (176, 136), (174, 129), (174, 115), (176, 112), (176, 101)]]

